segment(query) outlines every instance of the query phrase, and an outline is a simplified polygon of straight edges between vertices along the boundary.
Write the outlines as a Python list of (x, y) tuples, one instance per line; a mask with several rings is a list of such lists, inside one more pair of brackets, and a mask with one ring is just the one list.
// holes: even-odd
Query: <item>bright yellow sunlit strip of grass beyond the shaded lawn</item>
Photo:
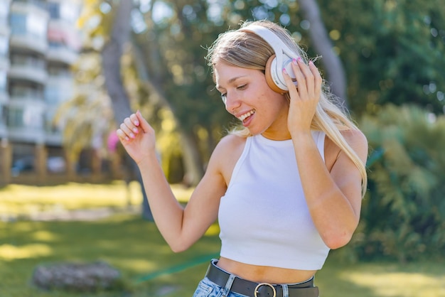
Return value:
[[(173, 185), (180, 202), (186, 202), (191, 189)], [(109, 184), (67, 183), (54, 186), (7, 185), (0, 188), (0, 219), (29, 217), (41, 212), (64, 212), (78, 209), (109, 207), (119, 209), (141, 205), (139, 183), (129, 187), (123, 181)]]

